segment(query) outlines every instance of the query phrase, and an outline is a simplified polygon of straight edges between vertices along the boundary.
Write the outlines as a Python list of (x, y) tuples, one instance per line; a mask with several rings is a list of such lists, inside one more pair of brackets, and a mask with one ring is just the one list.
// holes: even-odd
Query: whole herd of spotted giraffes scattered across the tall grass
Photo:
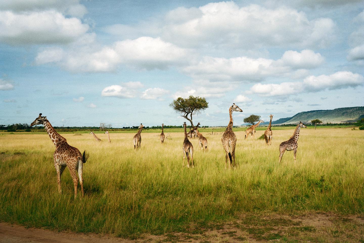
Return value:
[[(229, 107), (229, 115), (230, 115), (230, 120), (229, 120), (229, 124), (226, 127), (225, 132), (223, 132), (222, 137), (221, 137), (221, 142), (222, 142), (222, 146), (223, 149), (225, 150), (225, 163), (226, 163), (226, 167), (231, 167), (233, 166), (233, 168), (236, 167), (236, 162), (235, 162), (235, 146), (236, 146), (236, 135), (233, 132), (233, 111), (239, 111), (242, 112), (242, 109), (240, 109), (237, 105), (235, 105), (235, 103), (233, 103), (232, 106)], [(57, 182), (58, 182), (58, 192), (61, 193), (61, 176), (62, 173), (64, 171), (64, 169), (66, 168), (66, 166), (68, 166), (68, 168), (70, 169), (70, 174), (72, 177), (72, 180), (74, 182), (74, 197), (76, 198), (77, 196), (77, 185), (78, 185), (78, 180), (80, 181), (80, 186), (81, 186), (81, 192), (82, 192), (82, 196), (84, 195), (84, 191), (83, 191), (83, 177), (82, 177), (82, 172), (83, 172), (83, 164), (86, 163), (87, 159), (88, 159), (88, 154), (86, 153), (86, 151), (83, 152), (83, 154), (80, 153), (80, 151), (75, 148), (70, 146), (67, 141), (66, 138), (60, 136), (60, 134), (58, 134), (55, 129), (52, 127), (52, 125), (50, 124), (50, 122), (48, 121), (47, 117), (42, 117), (42, 114), (40, 113), (39, 116), (31, 123), (31, 126), (34, 125), (43, 125), (44, 128), (46, 129), (48, 135), (50, 136), (52, 142), (54, 143), (56, 150), (53, 154), (54, 157), (54, 166), (57, 172)], [(268, 128), (265, 130), (264, 132), (264, 138), (265, 138), (265, 142), (266, 145), (271, 145), (272, 144), (272, 130), (271, 130), (271, 126), (272, 126), (272, 118), (273, 115), (270, 114), (270, 122), (268, 125)], [(257, 124), (250, 126), (248, 129), (246, 129), (245, 131), (245, 139), (248, 137), (248, 134), (252, 134), (252, 138), (254, 138), (254, 133), (255, 133), (255, 128), (261, 123), (264, 122), (262, 120), (260, 120)], [(185, 157), (187, 157), (187, 167), (189, 168), (190, 166), (192, 168), (194, 168), (194, 162), (193, 162), (193, 145), (192, 143), (189, 141), (188, 138), (198, 138), (198, 144), (199, 147), (201, 146), (201, 149), (204, 150), (205, 152), (207, 152), (207, 138), (203, 137), (203, 135), (198, 131), (198, 127), (199, 127), (200, 123), (197, 124), (197, 126), (195, 126), (193, 129), (190, 129), (190, 132), (187, 133), (186, 132), (186, 122), (183, 123), (183, 128), (184, 128), (184, 132), (185, 132), (185, 139), (183, 141), (183, 163), (182, 166), (184, 166), (185, 164)], [(140, 126), (138, 127), (138, 132), (137, 134), (135, 134), (135, 136), (133, 137), (133, 142), (134, 142), (134, 149), (136, 148), (137, 150), (141, 148), (141, 142), (142, 142), (142, 137), (141, 137), (141, 132), (143, 129), (143, 124), (140, 124)], [(164, 128), (164, 124), (162, 124), (162, 133), (160, 135), (160, 141), (162, 144), (164, 144), (164, 139), (165, 139), (165, 135), (163, 132), (163, 128)], [(297, 153), (297, 141), (298, 141), (298, 136), (300, 135), (300, 129), (301, 128), (306, 128), (306, 126), (304, 124), (302, 124), (302, 122), (300, 122), (300, 124), (297, 125), (296, 129), (294, 130), (293, 136), (289, 138), (289, 140), (282, 142), (279, 146), (279, 151), (280, 151), (280, 155), (279, 155), (279, 162), (281, 162), (282, 156), (284, 154), (284, 152), (286, 150), (290, 151), (293, 150), (293, 158), (294, 158), (294, 162), (296, 162), (296, 153)], [(100, 138), (98, 138), (94, 132), (90, 132), (90, 134), (92, 134), (92, 136), (94, 136), (95, 140), (100, 142), (102, 141)], [(108, 131), (106, 131), (104, 134), (107, 134), (107, 138), (108, 138), (108, 142), (110, 141), (110, 134)], [(190, 158), (191, 157), (191, 158)], [(190, 162), (191, 160), (191, 162)], [(227, 162), (227, 160), (229, 160), (229, 163)], [(77, 178), (78, 175), (78, 178)]]

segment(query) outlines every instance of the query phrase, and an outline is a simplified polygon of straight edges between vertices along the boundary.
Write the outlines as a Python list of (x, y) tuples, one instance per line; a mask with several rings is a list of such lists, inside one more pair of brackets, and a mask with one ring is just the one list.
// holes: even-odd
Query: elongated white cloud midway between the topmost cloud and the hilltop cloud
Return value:
[(229, 59), (205, 56), (199, 62), (183, 68), (183, 73), (194, 79), (210, 81), (261, 81), (269, 76), (306, 74), (305, 68), (316, 68), (323, 62), (320, 53), (312, 50), (286, 51), (278, 60), (246, 56)]

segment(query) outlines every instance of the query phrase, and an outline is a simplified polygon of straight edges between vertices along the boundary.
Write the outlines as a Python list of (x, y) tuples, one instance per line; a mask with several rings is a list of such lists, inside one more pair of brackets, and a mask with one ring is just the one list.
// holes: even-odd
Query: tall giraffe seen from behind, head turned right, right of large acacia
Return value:
[(226, 127), (225, 132), (222, 134), (221, 137), (221, 142), (222, 142), (222, 146), (225, 150), (225, 163), (227, 166), (227, 157), (229, 157), (229, 168), (232, 165), (233, 159), (234, 159), (234, 164), (233, 166), (235, 167), (235, 145), (236, 145), (236, 136), (235, 133), (233, 132), (233, 111), (240, 111), (243, 112), (242, 109), (240, 109), (237, 105), (235, 105), (235, 103), (233, 103), (232, 106), (230, 106), (229, 108), (229, 114), (230, 114), (230, 121), (229, 124)]

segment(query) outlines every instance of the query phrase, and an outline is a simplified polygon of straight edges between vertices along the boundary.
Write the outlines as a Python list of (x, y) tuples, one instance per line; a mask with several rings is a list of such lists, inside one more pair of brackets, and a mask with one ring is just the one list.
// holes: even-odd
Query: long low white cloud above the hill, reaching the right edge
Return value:
[(291, 95), (304, 92), (318, 92), (323, 90), (344, 89), (364, 85), (364, 78), (360, 74), (348, 71), (335, 72), (331, 75), (309, 76), (302, 82), (283, 82), (280, 84), (258, 83), (250, 88), (249, 93), (262, 96)]

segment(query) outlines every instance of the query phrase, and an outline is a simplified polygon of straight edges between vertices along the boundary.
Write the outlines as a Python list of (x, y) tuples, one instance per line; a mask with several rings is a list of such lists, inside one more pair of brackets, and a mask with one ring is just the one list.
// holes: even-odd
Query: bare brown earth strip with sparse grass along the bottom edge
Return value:
[(0, 243), (364, 242), (362, 215), (310, 212), (291, 216), (251, 213), (239, 218), (234, 222), (211, 226), (210, 229), (203, 230), (202, 234), (141, 235), (133, 240), (0, 223)]

